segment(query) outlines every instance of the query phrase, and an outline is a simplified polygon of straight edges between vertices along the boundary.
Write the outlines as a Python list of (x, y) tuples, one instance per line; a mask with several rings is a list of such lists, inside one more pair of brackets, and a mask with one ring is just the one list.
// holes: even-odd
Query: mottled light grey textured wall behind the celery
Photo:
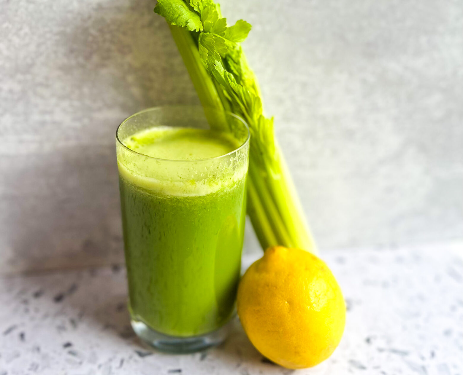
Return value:
[[(463, 237), (460, 1), (221, 3), (322, 249)], [(153, 7), (0, 0), (1, 271), (121, 259), (117, 124), (197, 102)]]

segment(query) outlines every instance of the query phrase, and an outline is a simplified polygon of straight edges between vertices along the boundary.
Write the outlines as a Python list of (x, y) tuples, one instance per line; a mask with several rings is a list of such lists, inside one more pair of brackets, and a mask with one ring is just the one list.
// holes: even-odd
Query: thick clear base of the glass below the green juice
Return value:
[(131, 320), (135, 333), (151, 347), (174, 354), (193, 353), (221, 344), (228, 336), (230, 322), (219, 329), (199, 336), (177, 337), (157, 332), (139, 320)]

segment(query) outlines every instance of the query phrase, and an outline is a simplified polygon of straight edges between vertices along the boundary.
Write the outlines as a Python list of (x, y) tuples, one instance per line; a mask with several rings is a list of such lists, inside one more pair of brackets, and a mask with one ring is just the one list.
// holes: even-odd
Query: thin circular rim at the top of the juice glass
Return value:
[[(132, 150), (131, 148), (128, 148), (127, 146), (125, 146), (124, 142), (120, 140), (119, 138), (119, 128), (124, 125), (127, 121), (129, 121), (132, 117), (135, 117), (135, 116), (138, 116), (138, 115), (141, 115), (142, 113), (145, 113), (145, 112), (149, 112), (149, 111), (155, 111), (155, 110), (161, 110), (161, 109), (175, 109), (175, 108), (202, 108), (202, 109), (205, 109), (205, 107), (201, 106), (201, 105), (160, 105), (160, 106), (156, 106), (156, 107), (149, 107), (149, 108), (145, 108), (144, 110), (142, 111), (138, 111), (136, 113), (134, 113), (133, 115), (125, 118), (124, 121), (122, 121), (122, 123), (119, 124), (119, 126), (117, 127), (116, 129), (116, 141), (119, 142), (119, 144), (125, 148), (126, 150), (134, 153), (134, 154), (138, 154), (140, 156), (144, 156), (145, 158), (150, 158), (150, 159), (153, 159), (153, 160), (161, 160), (161, 161), (175, 161), (175, 162), (187, 162), (187, 163), (191, 163), (191, 162), (196, 162), (196, 161), (206, 161), (206, 160), (216, 160), (216, 159), (220, 159), (220, 158), (223, 158), (225, 156), (229, 156), (231, 154), (234, 154), (236, 152), (238, 152), (240, 149), (244, 148), (248, 143), (249, 143), (249, 140), (250, 140), (250, 136), (251, 136), (251, 133), (250, 133), (250, 130), (249, 130), (249, 126), (248, 124), (244, 121), (243, 118), (239, 117), (238, 115), (235, 115), (234, 113), (230, 112), (230, 111), (224, 111), (224, 113), (226, 115), (229, 115), (229, 116), (232, 116), (232, 117), (235, 117), (238, 121), (240, 121), (245, 129), (247, 130), (248, 132), (248, 135), (246, 137), (246, 139), (244, 140), (244, 142), (237, 148), (233, 149), (232, 151), (226, 153), (226, 154), (223, 154), (223, 155), (219, 155), (219, 156), (214, 156), (213, 158), (205, 158), (205, 159), (194, 159), (194, 160), (175, 160), (175, 159), (162, 159), (162, 158), (155, 158), (154, 156), (149, 156), (149, 155), (145, 155), (145, 154), (142, 154), (142, 153), (139, 153), (138, 151), (135, 151), (135, 150)], [(206, 107), (207, 109), (210, 109), (210, 110), (213, 110), (213, 111), (216, 111), (216, 112), (219, 112), (219, 110), (216, 110), (216, 109), (213, 109), (211, 107)], [(194, 129), (194, 128), (192, 128)]]

